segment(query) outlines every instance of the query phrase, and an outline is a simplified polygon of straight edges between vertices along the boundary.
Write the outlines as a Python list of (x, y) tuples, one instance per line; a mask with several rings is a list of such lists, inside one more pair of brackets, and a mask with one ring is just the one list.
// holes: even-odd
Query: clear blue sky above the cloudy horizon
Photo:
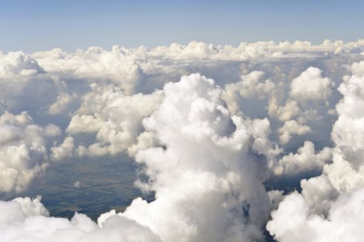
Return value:
[(0, 50), (364, 38), (364, 1), (0, 1)]

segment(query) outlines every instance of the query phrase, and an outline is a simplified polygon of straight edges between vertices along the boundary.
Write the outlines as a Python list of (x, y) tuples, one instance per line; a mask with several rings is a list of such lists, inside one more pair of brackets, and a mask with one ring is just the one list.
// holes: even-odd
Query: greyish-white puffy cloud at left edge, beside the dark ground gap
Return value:
[(44, 129), (27, 112), (0, 116), (0, 192), (21, 192), (48, 166)]

